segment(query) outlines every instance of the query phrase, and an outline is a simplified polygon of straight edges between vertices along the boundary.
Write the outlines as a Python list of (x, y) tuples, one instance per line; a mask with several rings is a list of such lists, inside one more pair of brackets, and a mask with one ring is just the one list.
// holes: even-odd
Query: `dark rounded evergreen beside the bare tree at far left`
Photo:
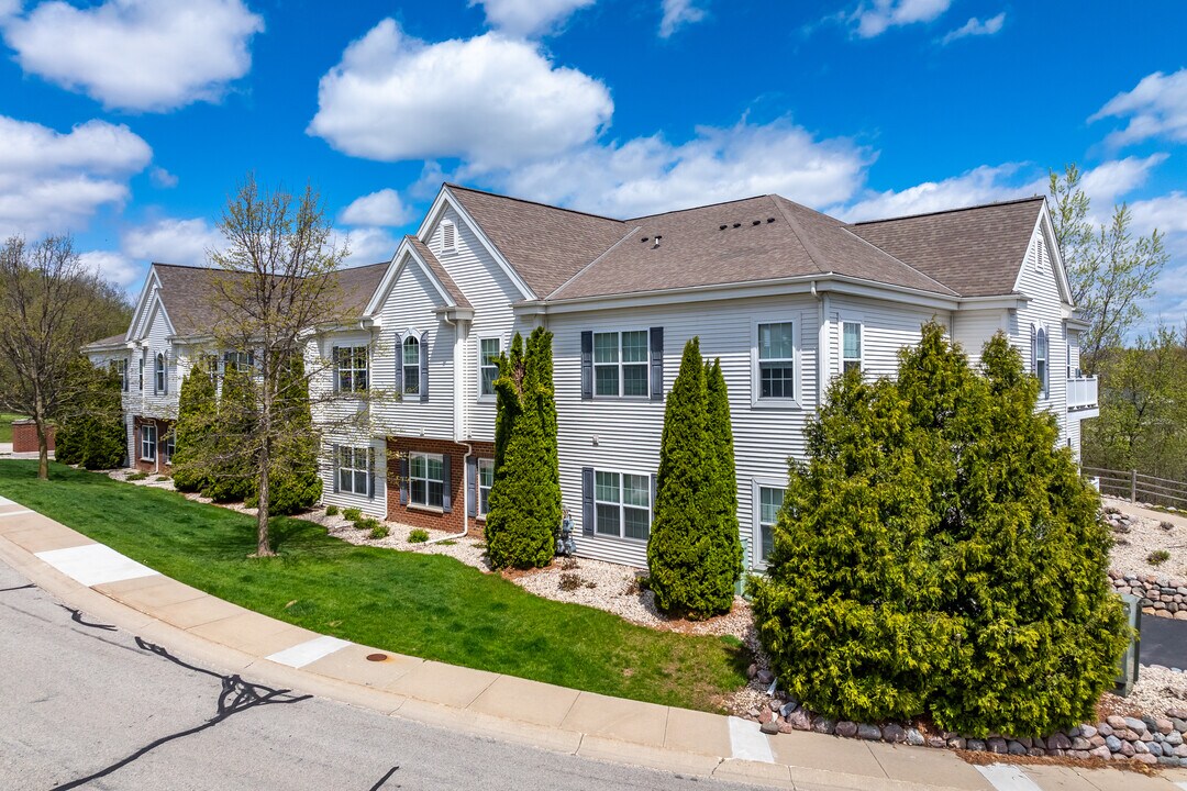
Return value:
[(87, 470), (112, 470), (127, 455), (120, 375), (80, 357), (68, 370), (71, 393), (55, 432), (53, 458)]

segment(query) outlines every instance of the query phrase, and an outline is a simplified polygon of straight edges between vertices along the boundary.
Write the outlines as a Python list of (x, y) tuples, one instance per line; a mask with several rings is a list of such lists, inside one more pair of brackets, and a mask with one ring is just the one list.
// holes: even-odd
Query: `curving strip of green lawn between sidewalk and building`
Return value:
[(0, 495), (216, 597), (324, 634), (577, 689), (719, 710), (745, 683), (732, 638), (635, 626), (532, 595), (443, 556), (355, 547), (303, 519), (273, 523), (275, 559), (249, 559), (255, 522), (180, 495), (33, 461), (0, 463)]

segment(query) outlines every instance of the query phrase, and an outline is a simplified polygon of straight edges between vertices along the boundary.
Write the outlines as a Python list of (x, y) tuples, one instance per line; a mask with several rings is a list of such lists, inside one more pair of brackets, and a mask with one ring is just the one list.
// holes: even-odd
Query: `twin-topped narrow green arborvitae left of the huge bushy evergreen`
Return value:
[(705, 365), (700, 340), (684, 347), (660, 440), (655, 518), (647, 564), (666, 612), (729, 612), (742, 573), (729, 397), (721, 364)]

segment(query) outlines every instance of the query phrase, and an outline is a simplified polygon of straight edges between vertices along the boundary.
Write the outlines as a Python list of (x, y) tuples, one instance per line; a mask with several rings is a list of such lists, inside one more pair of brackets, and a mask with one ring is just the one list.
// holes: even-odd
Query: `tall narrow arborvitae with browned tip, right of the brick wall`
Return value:
[(523, 351), (516, 333), (495, 381), (495, 480), (487, 515), (494, 568), (547, 566), (560, 527), (552, 333), (537, 327)]

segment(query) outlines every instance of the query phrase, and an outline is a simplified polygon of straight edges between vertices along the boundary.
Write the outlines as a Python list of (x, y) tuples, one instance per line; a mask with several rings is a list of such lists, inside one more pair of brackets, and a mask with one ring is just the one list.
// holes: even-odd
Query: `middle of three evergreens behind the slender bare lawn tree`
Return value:
[(256, 449), (252, 445), (256, 421), (254, 387), (249, 371), (228, 368), (223, 374), (210, 445), (202, 452), (208, 470), (202, 495), (216, 503), (245, 500), (255, 486)]

